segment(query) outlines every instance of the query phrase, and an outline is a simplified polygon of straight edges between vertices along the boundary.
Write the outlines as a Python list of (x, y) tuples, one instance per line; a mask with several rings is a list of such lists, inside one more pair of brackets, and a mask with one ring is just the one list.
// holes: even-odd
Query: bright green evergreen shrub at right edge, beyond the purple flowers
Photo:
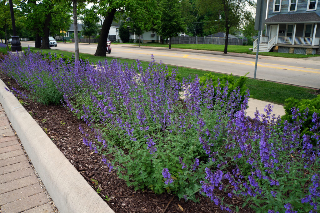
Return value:
[(310, 128), (312, 128), (313, 126), (313, 122), (312, 122), (312, 114), (313, 113), (317, 113), (320, 114), (320, 95), (317, 95), (316, 98), (314, 99), (302, 99), (302, 100), (298, 100), (298, 99), (294, 99), (294, 98), (288, 98), (285, 100), (285, 104), (284, 104), (284, 110), (285, 110), (285, 115), (282, 116), (282, 120), (283, 121), (289, 121), (289, 122), (293, 122), (292, 119), (292, 112), (291, 109), (295, 107), (295, 108), (299, 108), (300, 114), (298, 115), (296, 120), (300, 120), (302, 119), (302, 112), (305, 109), (309, 109), (308, 115), (307, 115), (307, 119), (306, 121), (302, 124), (301, 127), (301, 135), (311, 135), (312, 133), (310, 132)]

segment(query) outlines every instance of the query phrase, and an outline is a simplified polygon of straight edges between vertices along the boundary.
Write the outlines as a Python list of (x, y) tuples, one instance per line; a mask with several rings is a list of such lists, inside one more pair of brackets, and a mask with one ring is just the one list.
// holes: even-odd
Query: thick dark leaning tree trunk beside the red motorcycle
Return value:
[(103, 24), (101, 26), (101, 34), (98, 41), (98, 46), (96, 53), (94, 53), (95, 56), (106, 56), (106, 45), (108, 40), (108, 34), (109, 30), (112, 24), (112, 20), (115, 17), (116, 9), (111, 9), (111, 11), (106, 16), (105, 20), (103, 21)]

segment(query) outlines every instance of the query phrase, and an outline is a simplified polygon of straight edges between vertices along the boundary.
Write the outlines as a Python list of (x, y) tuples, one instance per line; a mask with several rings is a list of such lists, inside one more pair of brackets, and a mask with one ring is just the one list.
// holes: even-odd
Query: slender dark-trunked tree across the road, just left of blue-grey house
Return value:
[(238, 27), (245, 19), (250, 7), (254, 5), (253, 0), (198, 0), (198, 8), (201, 14), (208, 11), (221, 11), (221, 22), (226, 30), (226, 40), (223, 53), (228, 51), (228, 36), (229, 30), (233, 27)]

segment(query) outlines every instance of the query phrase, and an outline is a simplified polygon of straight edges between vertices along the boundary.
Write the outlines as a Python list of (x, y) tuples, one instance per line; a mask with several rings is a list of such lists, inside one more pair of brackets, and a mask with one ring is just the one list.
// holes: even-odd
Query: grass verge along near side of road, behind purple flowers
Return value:
[[(27, 47), (22, 47), (23, 50), (27, 49)], [(35, 48), (30, 48), (31, 50), (35, 50)], [(39, 51), (38, 49), (36, 51)], [(73, 52), (68, 51), (62, 51), (62, 50), (42, 50), (42, 52), (51, 52), (51, 53), (62, 53), (66, 56), (71, 56)], [(112, 57), (100, 57), (100, 56), (94, 56), (91, 54), (85, 54), (80, 53), (80, 56), (83, 58), (88, 59), (90, 62), (96, 63), (98, 61), (104, 61), (112, 60), (115, 58)], [(129, 65), (136, 64), (135, 60), (132, 59), (118, 59), (121, 62), (128, 63)], [(141, 61), (142, 67), (146, 68), (148, 67), (149, 61)], [(176, 66), (168, 65), (169, 70), (172, 68), (177, 68)], [(179, 74), (181, 77), (188, 77), (189, 75), (194, 78), (196, 75), (198, 77), (210, 72), (210, 71), (204, 71), (204, 70), (198, 70), (198, 69), (192, 69), (188, 67), (178, 67)], [(223, 76), (224, 74), (220, 73), (214, 73), (215, 75)], [(238, 76), (235, 76), (235, 79), (239, 78)], [(259, 99), (263, 101), (272, 102), (275, 104), (284, 104), (284, 100), (287, 98), (295, 98), (295, 99), (313, 99), (316, 97), (315, 90), (308, 89), (304, 87), (298, 87), (298, 86), (292, 86), (282, 83), (275, 83), (275, 82), (269, 82), (269, 81), (263, 81), (263, 80), (254, 80), (252, 78), (248, 78), (246, 81), (246, 85), (250, 90), (251, 98)]]

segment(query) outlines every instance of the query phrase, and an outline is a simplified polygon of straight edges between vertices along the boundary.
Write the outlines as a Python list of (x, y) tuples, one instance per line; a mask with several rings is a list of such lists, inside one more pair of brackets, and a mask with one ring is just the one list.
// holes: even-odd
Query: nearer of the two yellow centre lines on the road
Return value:
[[(130, 53), (131, 51), (122, 51), (122, 52), (128, 52)], [(150, 55), (150, 53), (142, 53), (140, 52), (139, 54), (143, 54), (143, 55)], [(185, 58), (185, 59), (195, 59), (195, 60), (204, 60), (204, 61), (215, 61), (215, 62), (223, 62), (223, 63), (230, 63), (230, 64), (241, 64), (241, 65), (249, 65), (249, 66), (254, 66), (255, 64), (253, 64), (252, 61), (244, 61), (244, 62), (249, 62), (249, 63), (241, 63), (241, 62), (233, 62), (233, 61), (224, 61), (224, 60), (215, 60), (215, 59), (200, 59), (200, 58), (191, 58), (191, 57), (183, 57), (183, 56), (173, 56), (173, 55), (162, 55), (162, 54), (153, 54), (154, 56), (165, 56), (165, 57), (174, 57), (174, 58)], [(212, 57), (214, 58), (214, 57)], [(238, 60), (241, 61), (241, 60)], [(268, 63), (265, 63), (268, 64)], [(271, 64), (271, 65), (275, 65), (275, 64)], [(306, 73), (316, 73), (316, 74), (320, 74), (320, 72), (316, 72), (316, 71), (308, 71), (308, 70), (301, 70), (301, 69), (290, 69), (290, 68), (285, 68), (285, 67), (271, 67), (271, 66), (264, 66), (264, 65), (258, 65), (259, 67), (267, 67), (267, 68), (274, 68), (274, 69), (282, 69), (282, 70), (292, 70), (292, 71), (298, 71), (298, 72), (306, 72)], [(282, 65), (285, 66), (285, 65)], [(286, 66), (286, 67), (290, 67), (290, 66)], [(297, 67), (297, 68), (303, 68), (303, 69), (309, 69), (309, 68), (304, 68), (304, 67)], [(312, 69), (312, 68), (310, 68)], [(317, 69), (320, 70), (320, 69)]]

